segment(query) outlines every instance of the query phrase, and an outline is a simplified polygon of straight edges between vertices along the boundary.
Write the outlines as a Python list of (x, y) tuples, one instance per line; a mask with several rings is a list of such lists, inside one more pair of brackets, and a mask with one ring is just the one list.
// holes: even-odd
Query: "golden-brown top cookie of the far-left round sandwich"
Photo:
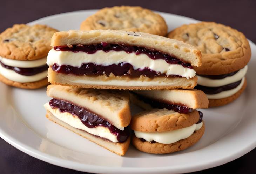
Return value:
[(47, 25), (15, 24), (0, 34), (0, 56), (15, 60), (36, 60), (46, 57), (55, 30)]

